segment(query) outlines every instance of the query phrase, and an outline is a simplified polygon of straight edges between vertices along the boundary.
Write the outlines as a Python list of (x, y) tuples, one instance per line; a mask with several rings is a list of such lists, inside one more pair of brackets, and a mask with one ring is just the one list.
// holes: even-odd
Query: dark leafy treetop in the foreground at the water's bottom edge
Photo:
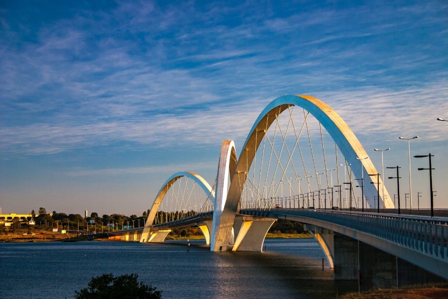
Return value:
[(124, 274), (113, 277), (103, 274), (93, 277), (87, 288), (75, 291), (75, 299), (160, 299), (162, 292), (157, 288), (137, 282), (137, 274)]

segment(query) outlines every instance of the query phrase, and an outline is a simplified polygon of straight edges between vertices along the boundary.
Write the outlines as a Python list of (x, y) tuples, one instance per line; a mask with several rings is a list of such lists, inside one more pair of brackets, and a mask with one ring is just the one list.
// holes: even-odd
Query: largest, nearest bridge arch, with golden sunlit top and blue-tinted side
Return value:
[[(364, 159), (368, 155), (356, 136), (329, 105), (317, 98), (306, 95), (286, 95), (279, 97), (269, 103), (258, 116), (238, 157), (235, 171), (230, 176), (231, 183), (221, 215), (220, 228), (217, 230), (215, 236), (215, 251), (220, 247), (225, 248), (226, 244), (228, 244), (231, 233), (230, 223), (234, 221), (244, 182), (262, 138), (274, 120), (283, 111), (292, 106), (298, 106), (307, 110), (322, 124), (335, 141), (345, 160), (351, 164), (353, 175), (356, 178), (361, 178), (362, 171), (365, 171), (367, 174), (378, 173), (371, 160), (369, 158)], [(357, 160), (357, 157), (360, 160)], [(384, 194), (382, 193), (381, 187), (378, 190), (378, 186), (381, 184), (382, 180), (380, 177), (365, 175), (364, 193), (373, 198), (379, 191), (379, 203), (383, 204), (383, 199), (386, 198), (384, 206), (386, 208), (394, 207), (387, 190), (384, 189)]]

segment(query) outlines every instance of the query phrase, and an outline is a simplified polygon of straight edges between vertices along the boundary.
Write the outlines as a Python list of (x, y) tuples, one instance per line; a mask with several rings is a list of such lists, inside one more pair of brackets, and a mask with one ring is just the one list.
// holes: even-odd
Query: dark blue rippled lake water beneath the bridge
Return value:
[[(162, 298), (335, 298), (356, 291), (322, 271), (314, 239), (266, 239), (266, 252), (212, 253), (204, 241), (0, 243), (0, 298), (73, 298), (103, 273), (138, 274)], [(173, 244), (174, 243), (174, 244)]]

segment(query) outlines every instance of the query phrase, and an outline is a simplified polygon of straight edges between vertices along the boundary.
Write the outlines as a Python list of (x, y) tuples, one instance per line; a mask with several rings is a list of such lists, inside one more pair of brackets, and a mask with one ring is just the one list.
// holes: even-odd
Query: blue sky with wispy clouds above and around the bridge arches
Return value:
[[(0, 0), (2, 213), (141, 215), (177, 171), (213, 184), (222, 142), (239, 153), (285, 94), (329, 104), (377, 169), (390, 148), (402, 192), (398, 137), (419, 136), (448, 208), (444, 0)], [(429, 207), (428, 159), (411, 162)]]

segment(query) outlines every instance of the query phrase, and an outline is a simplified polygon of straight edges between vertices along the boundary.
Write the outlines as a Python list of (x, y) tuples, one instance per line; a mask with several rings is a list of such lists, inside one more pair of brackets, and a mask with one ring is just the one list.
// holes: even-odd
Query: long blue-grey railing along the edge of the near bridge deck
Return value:
[[(448, 219), (406, 217), (390, 214), (357, 213), (330, 210), (270, 211), (240, 210), (240, 214), (261, 217), (291, 215), (318, 219), (387, 240), (434, 259), (448, 262)], [(278, 217), (276, 217), (278, 218)]]

